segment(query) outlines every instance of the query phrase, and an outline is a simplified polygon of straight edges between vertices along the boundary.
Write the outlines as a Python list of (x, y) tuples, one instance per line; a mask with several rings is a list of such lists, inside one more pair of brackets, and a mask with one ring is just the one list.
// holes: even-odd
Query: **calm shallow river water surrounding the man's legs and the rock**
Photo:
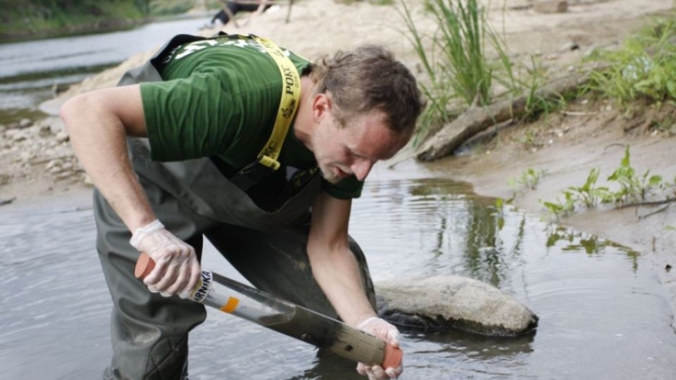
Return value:
[[(403, 379), (676, 373), (668, 305), (648, 260), (633, 251), (438, 179), (368, 182), (350, 232), (375, 281), (459, 274), (498, 286), (540, 317), (537, 334), (518, 338), (406, 334)], [(0, 209), (0, 242), (0, 379), (98, 377), (110, 355), (111, 302), (92, 212)], [(205, 267), (241, 280), (205, 249)], [(191, 379), (363, 379), (350, 362), (213, 310), (191, 336), (190, 364)]]

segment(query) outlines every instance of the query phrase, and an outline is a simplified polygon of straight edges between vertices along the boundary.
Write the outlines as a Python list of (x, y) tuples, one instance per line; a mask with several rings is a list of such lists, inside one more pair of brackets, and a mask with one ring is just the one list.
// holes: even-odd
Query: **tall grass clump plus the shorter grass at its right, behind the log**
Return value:
[[(465, 108), (489, 106), (503, 96), (525, 96), (525, 113), (520, 120), (532, 120), (565, 103), (563, 96), (539, 95), (538, 90), (549, 79), (546, 70), (534, 57), (531, 67), (511, 59), (506, 42), (489, 25), (477, 0), (426, 0), (425, 11), (437, 27), (432, 35), (418, 30), (411, 8), (401, 0), (405, 35), (425, 73), (419, 83), (427, 108), (420, 117), (414, 145)], [(500, 94), (496, 94), (498, 89)]]

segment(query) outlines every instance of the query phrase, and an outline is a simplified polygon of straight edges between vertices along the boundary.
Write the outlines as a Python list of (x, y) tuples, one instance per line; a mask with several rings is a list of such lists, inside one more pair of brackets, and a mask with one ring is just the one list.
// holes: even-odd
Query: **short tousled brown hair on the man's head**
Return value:
[(411, 134), (424, 103), (413, 74), (378, 45), (337, 51), (312, 65), (315, 94), (330, 94), (332, 112), (341, 125), (356, 115), (380, 110), (390, 129)]

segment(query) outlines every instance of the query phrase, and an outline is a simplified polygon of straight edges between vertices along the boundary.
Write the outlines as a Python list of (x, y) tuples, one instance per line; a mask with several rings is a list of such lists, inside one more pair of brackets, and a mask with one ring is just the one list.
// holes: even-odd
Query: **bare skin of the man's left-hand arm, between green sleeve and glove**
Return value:
[(127, 135), (146, 136), (139, 86), (75, 96), (61, 107), (61, 118), (84, 170), (127, 228), (155, 220), (127, 155)]

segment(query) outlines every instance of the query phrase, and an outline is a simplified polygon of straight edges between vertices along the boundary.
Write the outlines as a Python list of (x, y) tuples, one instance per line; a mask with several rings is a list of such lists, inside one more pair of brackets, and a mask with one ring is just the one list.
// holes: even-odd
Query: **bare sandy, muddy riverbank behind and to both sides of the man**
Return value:
[[(491, 19), (498, 30), (506, 33), (513, 56), (537, 54), (549, 72), (556, 73), (577, 65), (580, 58), (595, 47), (618, 44), (650, 15), (672, 7), (670, 0), (644, 0), (641, 6), (634, 0), (568, 3), (566, 13), (543, 14), (529, 8), (528, 1), (507, 1), (505, 8), (501, 4), (493, 6)], [(294, 5), (291, 23), (284, 23), (286, 16), (286, 8), (271, 8), (246, 25), (241, 20), (239, 29), (228, 25), (225, 31), (270, 36), (278, 44), (311, 58), (359, 44), (384, 44), (419, 72), (417, 58), (402, 34), (403, 21), (393, 6), (312, 0)], [(421, 30), (432, 30), (432, 23), (426, 20), (419, 6), (414, 6), (414, 18)], [(215, 31), (204, 31), (204, 34), (212, 32)], [(571, 50), (572, 44), (577, 49)], [(58, 109), (63, 99), (82, 91), (113, 86), (126, 68), (144, 61), (149, 53), (85, 80), (54, 101), (51, 109)], [(409, 159), (395, 169), (401, 175), (429, 171), (432, 175), (462, 179), (474, 184), (479, 194), (502, 198), (513, 195), (514, 189), (508, 186), (510, 177), (519, 177), (527, 168), (546, 170), (537, 189), (522, 191), (515, 198), (517, 207), (536, 214), (543, 212), (539, 199), (555, 200), (561, 197), (565, 187), (581, 185), (592, 167), (601, 169), (601, 178), (610, 175), (618, 167), (626, 145), (631, 146), (632, 165), (639, 172), (651, 169), (670, 181), (675, 177), (674, 137), (653, 134), (643, 127), (624, 132), (625, 127), (636, 120), (623, 118), (622, 113), (608, 103), (569, 106), (566, 111), (572, 113), (557, 113), (531, 125), (501, 130), (497, 137), (475, 148), (470, 156), (447, 158), (428, 165)], [(0, 201), (15, 198), (15, 203), (22, 203), (35, 196), (49, 197), (85, 189), (84, 173), (72, 156), (67, 137), (59, 134), (58, 118), (31, 124), (29, 121), (22, 128), (0, 128)], [(525, 130), (534, 131), (530, 134), (535, 138), (533, 143), (521, 142), (527, 140)], [(403, 153), (395, 161), (405, 156)], [(575, 213), (558, 222), (651, 255), (656, 273), (667, 286), (672, 308), (676, 310), (676, 272), (665, 270), (667, 264), (676, 264), (672, 249), (676, 232), (664, 229), (667, 224), (676, 224), (676, 206), (644, 217), (652, 210), (654, 208), (649, 207), (592, 210)]]

